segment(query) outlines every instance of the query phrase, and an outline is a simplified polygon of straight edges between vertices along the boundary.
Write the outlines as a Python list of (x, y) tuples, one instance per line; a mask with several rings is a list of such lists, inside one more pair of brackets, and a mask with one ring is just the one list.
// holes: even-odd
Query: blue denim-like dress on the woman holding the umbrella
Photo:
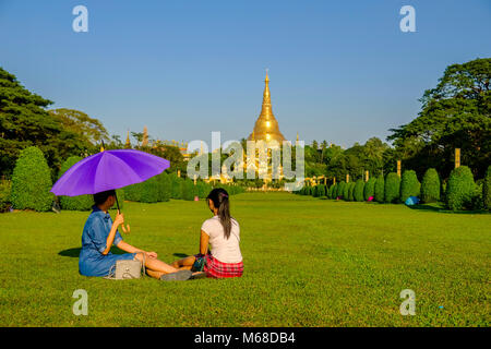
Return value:
[[(109, 214), (97, 206), (93, 206), (93, 212), (88, 216), (82, 233), (82, 250), (79, 256), (80, 274), (85, 276), (107, 276), (110, 268), (119, 260), (133, 260), (135, 253), (124, 254), (103, 254), (106, 250), (106, 241), (112, 227), (112, 219)], [(116, 231), (113, 245), (122, 241), (119, 231)]]

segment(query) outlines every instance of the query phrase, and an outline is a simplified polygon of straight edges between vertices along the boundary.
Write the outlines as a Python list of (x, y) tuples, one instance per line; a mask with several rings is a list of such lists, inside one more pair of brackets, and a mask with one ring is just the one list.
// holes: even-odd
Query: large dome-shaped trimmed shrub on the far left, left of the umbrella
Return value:
[(51, 209), (53, 194), (51, 172), (39, 148), (31, 146), (21, 152), (12, 176), (12, 205), (16, 209)]

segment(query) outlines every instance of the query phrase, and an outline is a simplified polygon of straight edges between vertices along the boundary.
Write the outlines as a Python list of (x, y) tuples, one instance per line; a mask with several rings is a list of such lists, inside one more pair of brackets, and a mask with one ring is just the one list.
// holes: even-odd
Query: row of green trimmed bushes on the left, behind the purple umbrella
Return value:
[[(68, 158), (61, 166), (58, 178), (80, 160), (82, 158), (77, 156)], [(50, 192), (51, 186), (51, 174), (43, 152), (37, 147), (24, 149), (16, 161), (12, 182), (0, 182), (0, 213), (11, 206), (15, 209), (50, 210), (56, 200)], [(231, 195), (243, 192), (239, 185), (216, 186), (225, 188)], [(164, 172), (145, 182), (118, 189), (117, 195), (122, 208), (124, 200), (143, 203), (166, 202), (169, 198), (192, 201), (195, 196), (206, 197), (212, 189), (211, 184), (203, 181), (197, 181), (194, 185), (190, 179)], [(59, 203), (62, 209), (68, 210), (88, 210), (94, 204), (92, 195), (60, 196)]]

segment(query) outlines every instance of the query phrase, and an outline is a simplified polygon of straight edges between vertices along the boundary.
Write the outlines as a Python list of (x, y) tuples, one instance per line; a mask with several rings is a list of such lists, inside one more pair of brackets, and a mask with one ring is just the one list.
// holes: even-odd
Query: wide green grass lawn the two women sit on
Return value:
[[(244, 276), (164, 282), (79, 274), (88, 213), (0, 215), (0, 326), (489, 326), (491, 215), (232, 196)], [(204, 202), (125, 203), (125, 240), (171, 262), (197, 252)], [(76, 289), (88, 315), (75, 316)], [(403, 289), (416, 315), (403, 316)]]

